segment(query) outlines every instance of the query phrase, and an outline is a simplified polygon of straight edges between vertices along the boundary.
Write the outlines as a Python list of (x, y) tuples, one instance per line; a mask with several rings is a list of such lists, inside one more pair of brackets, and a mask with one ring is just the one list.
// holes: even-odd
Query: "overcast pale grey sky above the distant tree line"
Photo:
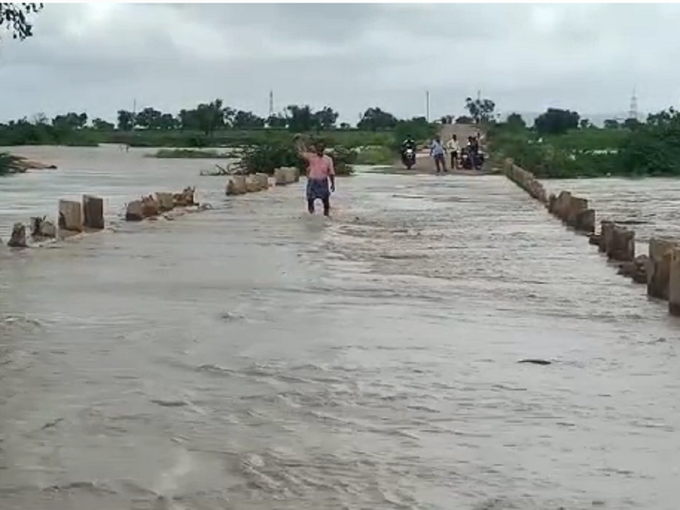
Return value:
[(354, 122), (463, 113), (622, 113), (680, 104), (680, 5), (45, 4), (0, 41), (0, 120), (70, 110), (178, 111), (215, 97), (265, 115), (330, 105)]

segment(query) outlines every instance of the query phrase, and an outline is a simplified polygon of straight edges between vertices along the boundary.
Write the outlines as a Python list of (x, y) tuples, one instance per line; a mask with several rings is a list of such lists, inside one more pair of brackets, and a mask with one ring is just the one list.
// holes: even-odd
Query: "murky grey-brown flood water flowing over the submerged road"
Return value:
[(31, 149), (60, 169), (3, 179), (0, 224), (214, 209), (0, 251), (3, 510), (677, 508), (680, 322), (505, 178), (340, 179), (324, 221), (99, 150)]

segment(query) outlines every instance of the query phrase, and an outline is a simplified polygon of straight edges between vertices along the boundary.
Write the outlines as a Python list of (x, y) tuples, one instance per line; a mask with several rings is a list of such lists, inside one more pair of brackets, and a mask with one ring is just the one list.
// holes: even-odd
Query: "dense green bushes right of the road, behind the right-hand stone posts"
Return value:
[(491, 126), (495, 158), (543, 178), (680, 176), (680, 113), (670, 108), (645, 122), (593, 126), (569, 110), (549, 109), (527, 127), (517, 114)]

